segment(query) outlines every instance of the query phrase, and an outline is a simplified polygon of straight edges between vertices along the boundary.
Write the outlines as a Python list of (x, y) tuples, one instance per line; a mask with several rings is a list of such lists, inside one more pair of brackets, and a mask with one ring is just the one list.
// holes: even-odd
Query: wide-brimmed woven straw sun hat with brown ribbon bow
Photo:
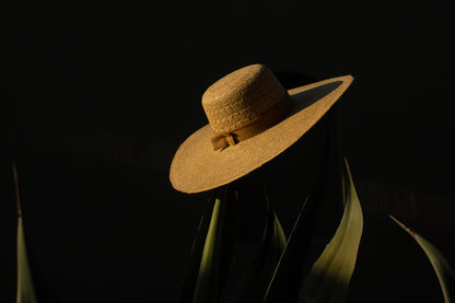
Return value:
[(209, 124), (174, 155), (173, 187), (188, 194), (205, 191), (258, 168), (308, 131), (352, 80), (345, 75), (287, 91), (264, 65), (225, 75), (202, 95)]

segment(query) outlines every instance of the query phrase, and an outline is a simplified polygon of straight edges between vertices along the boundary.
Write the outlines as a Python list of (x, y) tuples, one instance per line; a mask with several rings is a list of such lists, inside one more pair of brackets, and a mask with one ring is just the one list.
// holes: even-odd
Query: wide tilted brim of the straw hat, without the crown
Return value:
[(343, 75), (289, 90), (291, 113), (267, 130), (223, 150), (213, 150), (210, 125), (188, 137), (176, 151), (170, 179), (194, 194), (229, 184), (269, 162), (308, 131), (352, 83)]

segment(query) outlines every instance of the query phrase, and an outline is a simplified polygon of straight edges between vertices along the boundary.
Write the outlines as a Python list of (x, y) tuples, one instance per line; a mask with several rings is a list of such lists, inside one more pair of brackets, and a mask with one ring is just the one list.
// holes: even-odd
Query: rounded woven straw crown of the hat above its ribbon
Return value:
[(234, 131), (261, 116), (287, 95), (264, 65), (238, 69), (218, 80), (202, 95), (202, 107), (214, 132)]

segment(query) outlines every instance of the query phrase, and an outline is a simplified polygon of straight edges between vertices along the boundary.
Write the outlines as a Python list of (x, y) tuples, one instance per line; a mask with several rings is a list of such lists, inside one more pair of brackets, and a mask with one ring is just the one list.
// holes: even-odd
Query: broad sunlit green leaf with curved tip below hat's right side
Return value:
[(343, 302), (353, 273), (363, 230), (363, 215), (351, 173), (348, 174), (348, 198), (335, 236), (306, 277), (300, 302)]

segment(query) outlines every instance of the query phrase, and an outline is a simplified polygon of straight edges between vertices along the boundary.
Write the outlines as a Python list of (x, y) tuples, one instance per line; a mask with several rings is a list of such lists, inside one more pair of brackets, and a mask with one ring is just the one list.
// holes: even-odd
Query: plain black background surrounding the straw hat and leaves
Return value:
[(206, 124), (203, 91), (256, 62), (355, 78), (339, 102), (365, 212), (348, 299), (440, 300), (387, 213), (455, 261), (448, 4), (16, 1), (5, 10), (0, 301), (14, 298), (12, 160), (34, 264), (66, 302), (175, 301), (206, 195), (172, 189), (171, 160)]

